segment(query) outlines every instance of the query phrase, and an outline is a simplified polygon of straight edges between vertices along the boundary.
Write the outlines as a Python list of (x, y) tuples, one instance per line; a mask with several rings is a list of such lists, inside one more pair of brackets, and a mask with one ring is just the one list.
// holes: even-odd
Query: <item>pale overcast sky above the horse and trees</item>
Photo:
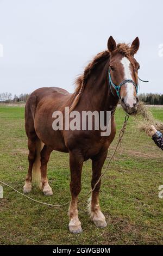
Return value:
[[(57, 86), (73, 92), (74, 78), (112, 35), (140, 39), (140, 92), (163, 93), (162, 0), (0, 0), (0, 93)], [(163, 47), (162, 47), (163, 48)]]

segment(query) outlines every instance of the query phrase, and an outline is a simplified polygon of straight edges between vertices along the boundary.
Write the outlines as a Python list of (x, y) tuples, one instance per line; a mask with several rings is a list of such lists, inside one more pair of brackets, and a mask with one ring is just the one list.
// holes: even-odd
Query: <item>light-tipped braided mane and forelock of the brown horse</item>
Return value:
[(116, 49), (112, 53), (110, 53), (108, 50), (98, 53), (93, 58), (93, 60), (86, 66), (84, 73), (78, 76), (75, 81), (75, 91), (74, 91), (73, 97), (71, 98), (72, 102), (70, 102), (70, 104), (72, 103), (70, 107), (70, 112), (73, 111), (73, 109), (77, 106), (80, 96), (82, 95), (82, 92), (86, 86), (86, 82), (91, 75), (91, 72), (96, 68), (96, 66), (99, 63), (109, 58), (111, 54), (113, 55), (113, 54), (116, 54), (117, 52), (122, 53), (124, 56), (126, 56), (130, 60), (131, 64), (134, 64), (133, 57), (130, 54), (130, 46), (127, 44), (118, 44)]

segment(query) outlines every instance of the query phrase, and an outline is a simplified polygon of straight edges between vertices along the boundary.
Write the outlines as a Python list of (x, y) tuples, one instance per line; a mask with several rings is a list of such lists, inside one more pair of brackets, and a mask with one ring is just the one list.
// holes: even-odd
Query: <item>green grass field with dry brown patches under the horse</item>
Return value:
[[(163, 121), (163, 108), (151, 108)], [(117, 134), (124, 112), (116, 111)], [(108, 158), (114, 150), (111, 144)], [(99, 229), (87, 215), (86, 202), (79, 204), (83, 233), (68, 231), (68, 207), (49, 208), (32, 202), (8, 187), (0, 199), (1, 245), (146, 245), (163, 243), (162, 151), (151, 138), (137, 130), (130, 117), (121, 149), (102, 180), (101, 208), (108, 226)], [(107, 162), (107, 160), (106, 160)], [(105, 165), (106, 165), (105, 162)], [(24, 131), (24, 107), (0, 106), (0, 180), (22, 192), (28, 168), (27, 137)], [(54, 151), (48, 164), (52, 197), (33, 187), (30, 196), (52, 204), (70, 200), (68, 154)], [(82, 192), (90, 190), (91, 161), (84, 163)], [(0, 184), (1, 185), (1, 184)]]

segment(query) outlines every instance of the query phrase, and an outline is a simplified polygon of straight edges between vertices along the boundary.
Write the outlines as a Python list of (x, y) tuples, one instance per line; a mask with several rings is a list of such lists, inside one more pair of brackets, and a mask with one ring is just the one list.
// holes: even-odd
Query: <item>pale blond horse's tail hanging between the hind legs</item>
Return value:
[(43, 149), (43, 142), (40, 141), (40, 139), (37, 139), (36, 141), (36, 159), (33, 164), (32, 168), (32, 174), (33, 174), (33, 180), (40, 185), (41, 181), (41, 150)]

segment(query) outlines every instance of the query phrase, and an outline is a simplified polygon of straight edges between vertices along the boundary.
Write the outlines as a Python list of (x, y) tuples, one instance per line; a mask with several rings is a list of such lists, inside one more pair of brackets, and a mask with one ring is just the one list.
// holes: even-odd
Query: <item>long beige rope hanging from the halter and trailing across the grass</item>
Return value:
[[(109, 168), (109, 166), (110, 166), (110, 162), (111, 162), (111, 160), (113, 159), (113, 157), (114, 157), (114, 155), (115, 155), (115, 153), (116, 153), (116, 151), (117, 151), (117, 149), (118, 149), (118, 146), (120, 145), (120, 147), (121, 147), (122, 138), (123, 138), (124, 132), (125, 132), (125, 130), (126, 130), (126, 126), (127, 126), (128, 119), (129, 119), (129, 114), (126, 113), (126, 116), (125, 116), (124, 122), (123, 122), (123, 126), (122, 126), (122, 128), (121, 128), (121, 130), (120, 130), (120, 133), (119, 133), (119, 139), (118, 139), (117, 145), (116, 145), (115, 150), (114, 150), (114, 152), (112, 153), (112, 155), (111, 155), (111, 157), (110, 157), (110, 159), (109, 159), (109, 162), (108, 162), (108, 164), (107, 164), (107, 166), (106, 166), (104, 172), (103, 172), (103, 173), (101, 174), (101, 176), (99, 177), (99, 179), (98, 179), (98, 181), (96, 182), (96, 184), (95, 184), (95, 186), (93, 187), (93, 189), (92, 189), (89, 193), (87, 193), (83, 198), (81, 198), (80, 200), (78, 200), (78, 203), (82, 202), (86, 197), (88, 197), (88, 196), (95, 190), (96, 186), (97, 186), (98, 183), (101, 181), (101, 178), (105, 175), (106, 171), (108, 170), (108, 168)], [(28, 199), (30, 199), (30, 200), (32, 200), (32, 201), (34, 201), (34, 202), (36, 202), (36, 203), (39, 203), (39, 204), (44, 204), (44, 205), (53, 206), (53, 207), (55, 207), (55, 208), (58, 208), (58, 207), (61, 207), (61, 206), (65, 206), (65, 205), (67, 205), (67, 204), (70, 204), (70, 202), (71, 202), (71, 201), (68, 201), (68, 202), (65, 203), (65, 204), (48, 204), (48, 203), (44, 203), (44, 202), (35, 200), (35, 199), (31, 198), (31, 197), (28, 197), (26, 194), (21, 193), (20, 191), (16, 190), (14, 187), (11, 187), (10, 185), (6, 184), (5, 182), (3, 182), (3, 181), (1, 181), (1, 180), (0, 180), (0, 182), (1, 182), (3, 185), (5, 185), (5, 186), (10, 187), (12, 190), (16, 191), (17, 193), (21, 194), (22, 196), (27, 197)]]

